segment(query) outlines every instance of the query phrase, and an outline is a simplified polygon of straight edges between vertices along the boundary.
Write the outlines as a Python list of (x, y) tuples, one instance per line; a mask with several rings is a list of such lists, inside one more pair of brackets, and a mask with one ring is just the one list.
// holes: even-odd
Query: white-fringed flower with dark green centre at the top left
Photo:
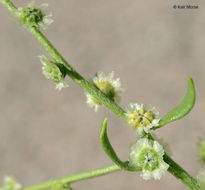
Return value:
[(39, 7), (36, 7), (34, 4), (35, 1), (32, 1), (26, 7), (19, 7), (15, 14), (22, 24), (25, 23), (30, 26), (46, 29), (53, 22), (52, 14), (45, 10), (48, 4), (44, 3)]

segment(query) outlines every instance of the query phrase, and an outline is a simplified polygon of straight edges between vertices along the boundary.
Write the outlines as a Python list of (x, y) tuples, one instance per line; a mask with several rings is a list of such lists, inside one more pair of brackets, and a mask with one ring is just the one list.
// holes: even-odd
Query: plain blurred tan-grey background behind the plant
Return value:
[[(18, 6), (29, 1), (15, 0)], [(41, 1), (37, 1), (41, 3)], [(184, 119), (155, 132), (173, 159), (197, 175), (197, 140), (205, 137), (205, 2), (201, 0), (45, 0), (54, 23), (45, 31), (62, 55), (87, 79), (115, 71), (126, 91), (121, 105), (154, 105), (161, 116), (183, 98), (194, 78), (197, 101)], [(174, 4), (197, 4), (174, 10)], [(83, 90), (67, 79), (61, 92), (41, 74), (36, 40), (0, 5), (0, 179), (16, 177), (28, 186), (111, 164), (99, 143), (100, 123), (122, 160), (136, 140), (132, 129), (106, 108), (95, 113)], [(169, 173), (143, 181), (138, 173), (115, 174), (75, 183), (74, 189), (185, 190)]]

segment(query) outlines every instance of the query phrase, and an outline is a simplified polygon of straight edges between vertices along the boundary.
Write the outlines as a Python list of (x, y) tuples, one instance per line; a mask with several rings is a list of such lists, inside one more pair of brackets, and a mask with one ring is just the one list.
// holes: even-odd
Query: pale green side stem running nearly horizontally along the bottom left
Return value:
[(58, 178), (58, 179), (55, 179), (55, 180), (44, 182), (44, 183), (41, 183), (41, 184), (38, 184), (38, 185), (25, 187), (22, 190), (48, 189), (48, 188), (52, 187), (53, 185), (55, 185), (56, 183), (71, 184), (71, 183), (74, 183), (76, 181), (90, 179), (90, 178), (93, 178), (93, 177), (102, 176), (102, 175), (106, 175), (106, 174), (121, 171), (121, 170), (122, 169), (117, 165), (110, 165), (110, 166), (107, 166), (107, 167), (104, 167), (104, 168), (90, 170), (90, 171), (87, 171), (87, 172), (74, 174), (74, 175), (71, 175), (71, 176), (68, 176), (68, 177)]

